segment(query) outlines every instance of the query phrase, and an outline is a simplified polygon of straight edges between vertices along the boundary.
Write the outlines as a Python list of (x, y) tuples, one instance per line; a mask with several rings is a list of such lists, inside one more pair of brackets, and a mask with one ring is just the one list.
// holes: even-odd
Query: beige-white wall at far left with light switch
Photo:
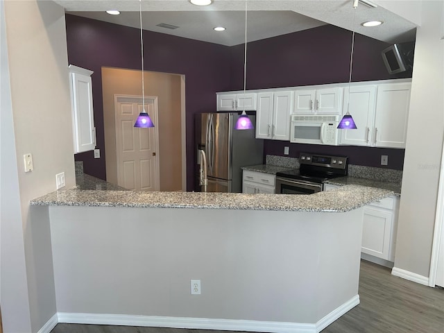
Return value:
[[(4, 114), (10, 118), (3, 123), (2, 105), (2, 138), (3, 126), (6, 128), (2, 148), (9, 155), (3, 161), (2, 149), (1, 307), (6, 333), (37, 332), (56, 313), (56, 298), (49, 217), (38, 211), (29, 214), (29, 200), (54, 191), (56, 173), (62, 171), (67, 187), (75, 185), (65, 10), (53, 1), (7, 0), (4, 15), (6, 40), (2, 38), (2, 46), (8, 51), (9, 64), (2, 57), (2, 73), (6, 65), (10, 76), (3, 78), (2, 74), (2, 89), (3, 81), (10, 85)], [(34, 171), (30, 173), (24, 173), (25, 153), (33, 154)], [(12, 262), (16, 266), (6, 273), (5, 265)], [(11, 275), (9, 280), (4, 278), (6, 274)], [(17, 289), (17, 300), (8, 299), (8, 292)], [(27, 295), (22, 300), (23, 293)], [(13, 307), (17, 313), (12, 312)], [(15, 316), (22, 316), (21, 322)]]

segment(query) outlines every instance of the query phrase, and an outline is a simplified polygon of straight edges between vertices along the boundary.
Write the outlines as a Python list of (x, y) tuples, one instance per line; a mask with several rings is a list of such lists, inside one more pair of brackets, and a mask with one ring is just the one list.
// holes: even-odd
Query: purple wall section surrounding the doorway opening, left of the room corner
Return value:
[[(101, 158), (92, 151), (75, 155), (85, 173), (106, 179), (101, 67), (141, 69), (136, 28), (66, 15), (69, 64), (94, 71), (94, 122)], [(216, 92), (230, 89), (227, 46), (144, 31), (144, 69), (185, 74), (187, 110), (187, 189), (194, 189), (194, 114), (216, 110)], [(141, 87), (142, 94), (142, 87)], [(149, 92), (145, 92), (149, 94)]]

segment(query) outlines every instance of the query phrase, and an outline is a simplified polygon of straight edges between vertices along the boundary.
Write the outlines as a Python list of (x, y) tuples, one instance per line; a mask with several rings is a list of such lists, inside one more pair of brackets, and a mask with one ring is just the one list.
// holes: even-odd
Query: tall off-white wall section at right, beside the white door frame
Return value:
[(428, 277), (444, 134), (444, 2), (421, 5), (395, 268)]

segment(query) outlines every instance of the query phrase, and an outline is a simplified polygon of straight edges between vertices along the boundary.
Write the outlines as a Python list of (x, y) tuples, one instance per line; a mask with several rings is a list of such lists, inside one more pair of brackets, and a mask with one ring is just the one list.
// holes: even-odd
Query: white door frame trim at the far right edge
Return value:
[(435, 287), (438, 274), (438, 259), (444, 258), (444, 253), (439, 253), (441, 241), (444, 241), (444, 141), (441, 153), (441, 165), (439, 173), (438, 198), (436, 200), (435, 228), (433, 233), (432, 257), (430, 259), (429, 287)]

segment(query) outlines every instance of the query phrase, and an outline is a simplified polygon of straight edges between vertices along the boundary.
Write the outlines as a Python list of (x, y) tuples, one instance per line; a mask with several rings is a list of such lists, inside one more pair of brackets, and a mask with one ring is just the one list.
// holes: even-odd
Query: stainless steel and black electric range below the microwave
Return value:
[(300, 169), (276, 173), (277, 194), (314, 194), (325, 180), (347, 176), (348, 157), (300, 153)]

